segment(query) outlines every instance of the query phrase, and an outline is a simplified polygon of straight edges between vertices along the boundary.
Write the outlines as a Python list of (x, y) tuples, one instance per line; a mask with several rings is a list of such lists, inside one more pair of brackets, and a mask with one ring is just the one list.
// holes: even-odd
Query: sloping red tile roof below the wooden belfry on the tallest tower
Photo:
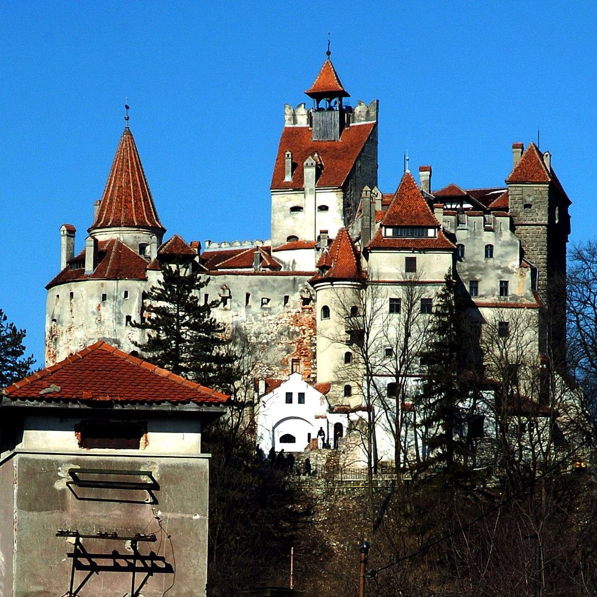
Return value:
[[(272, 189), (302, 189), (304, 161), (315, 152), (324, 164), (316, 186), (342, 186), (375, 127), (374, 122), (367, 122), (344, 128), (339, 141), (313, 141), (309, 127), (284, 127), (273, 168)], [(293, 179), (289, 181), (284, 180), (287, 151), (292, 152), (296, 164)]]

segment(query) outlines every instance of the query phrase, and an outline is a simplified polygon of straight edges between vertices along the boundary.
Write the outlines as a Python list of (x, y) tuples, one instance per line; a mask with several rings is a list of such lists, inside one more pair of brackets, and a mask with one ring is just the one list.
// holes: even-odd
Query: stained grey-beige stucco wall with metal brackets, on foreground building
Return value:
[[(169, 564), (176, 559), (176, 575), (154, 574), (141, 590), (146, 597), (159, 597), (174, 581), (168, 595), (196, 597), (204, 595), (207, 559), (208, 513), (208, 460), (207, 457), (146, 457), (121, 456), (72, 456), (70, 454), (17, 454), (16, 466), (17, 503), (14, 518), (2, 516), (2, 550), (7, 549), (5, 537), (13, 537), (15, 566), (14, 583), (3, 595), (14, 597), (54, 597), (63, 595), (69, 588), (70, 565), (67, 553), (72, 552), (72, 538), (56, 537), (61, 529), (78, 530), (81, 534), (100, 531), (116, 532), (120, 536), (136, 533), (155, 533), (155, 543), (139, 543), (139, 551), (149, 554), (153, 550), (164, 556)], [(78, 500), (66, 482), (70, 468), (150, 470), (159, 483), (155, 491), (158, 504), (119, 503), (115, 501)], [(0, 495), (8, 494), (13, 487), (12, 467), (2, 468)], [(120, 496), (118, 490), (93, 490), (94, 496)], [(126, 493), (126, 492), (124, 492)], [(10, 508), (10, 501), (2, 502), (2, 509)], [(7, 506), (8, 504), (8, 506)], [(4, 512), (3, 512), (4, 513)], [(161, 519), (161, 527), (156, 519)], [(168, 538), (170, 535), (170, 538)], [(121, 555), (131, 555), (130, 544), (119, 540), (85, 539), (85, 549), (91, 553), (117, 550)], [(5, 556), (4, 556), (5, 557)], [(102, 564), (113, 564), (110, 558)], [(115, 568), (126, 570), (127, 562), (116, 559)], [(76, 584), (84, 572), (76, 573)], [(142, 577), (141, 577), (142, 578)], [(141, 580), (137, 574), (138, 582)], [(82, 595), (98, 597), (125, 595), (131, 590), (130, 573), (102, 571), (91, 576)]]

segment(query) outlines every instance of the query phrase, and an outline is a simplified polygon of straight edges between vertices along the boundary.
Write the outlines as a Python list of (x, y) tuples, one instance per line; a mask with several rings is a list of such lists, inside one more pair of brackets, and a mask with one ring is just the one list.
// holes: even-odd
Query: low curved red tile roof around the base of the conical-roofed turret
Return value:
[[(80, 266), (80, 267), (79, 267)], [(72, 268), (72, 269), (71, 269)], [(85, 249), (69, 260), (67, 266), (47, 286), (79, 280), (146, 280), (147, 261), (127, 247), (124, 242), (111, 238), (97, 244), (97, 264), (92, 273), (85, 273)]]

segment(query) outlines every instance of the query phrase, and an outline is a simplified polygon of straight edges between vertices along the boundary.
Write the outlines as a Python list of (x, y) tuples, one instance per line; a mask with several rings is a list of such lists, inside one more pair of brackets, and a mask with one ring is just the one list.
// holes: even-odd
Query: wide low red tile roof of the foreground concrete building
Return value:
[(229, 396), (189, 381), (105, 342), (79, 350), (3, 390), (39, 402), (193, 402), (222, 404)]

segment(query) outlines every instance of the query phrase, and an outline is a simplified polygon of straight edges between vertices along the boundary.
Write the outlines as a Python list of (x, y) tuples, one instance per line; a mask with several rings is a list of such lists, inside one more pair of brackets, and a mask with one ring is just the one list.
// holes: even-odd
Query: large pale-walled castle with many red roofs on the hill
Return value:
[[(85, 249), (75, 254), (74, 227), (60, 228), (60, 273), (47, 285), (47, 365), (98, 340), (134, 350), (143, 331), (130, 324), (172, 256), (199, 264), (210, 277), (205, 301), (220, 300), (214, 316), (259, 347), (258, 393), (272, 407), (258, 438), (268, 448), (302, 450), (324, 421), (327, 442), (337, 444), (350, 418), (373, 408), (372, 387), (410, 413), (448, 272), (479, 337), (481, 328), (496, 338), (516, 332), (537, 362), (564, 346), (565, 306), (550, 293), (565, 276), (570, 200), (549, 152), (513, 143), (500, 187), (433, 190), (432, 168), (421, 165), (418, 183), (405, 169), (386, 193), (377, 187), (377, 100), (349, 106), (329, 55), (305, 93), (310, 107), (284, 108), (266, 241), (164, 242), (127, 124)], [(307, 413), (311, 389), (319, 398), (307, 400)]]

